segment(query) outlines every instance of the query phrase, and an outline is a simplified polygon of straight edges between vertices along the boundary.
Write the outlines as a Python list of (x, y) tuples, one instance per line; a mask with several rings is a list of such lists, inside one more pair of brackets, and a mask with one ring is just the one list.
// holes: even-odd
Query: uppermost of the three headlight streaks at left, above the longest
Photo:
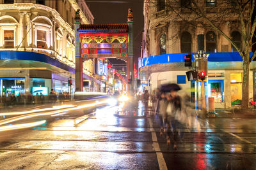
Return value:
[(35, 112), (41, 112), (41, 111), (51, 111), (51, 110), (60, 110), (62, 108), (72, 108), (74, 106), (75, 105), (72, 105), (72, 104), (68, 104), (68, 105), (65, 104), (61, 106), (52, 106), (52, 108), (44, 108), (44, 109), (38, 109), (38, 110), (0, 113), (0, 116), (24, 115), (28, 113), (35, 113)]

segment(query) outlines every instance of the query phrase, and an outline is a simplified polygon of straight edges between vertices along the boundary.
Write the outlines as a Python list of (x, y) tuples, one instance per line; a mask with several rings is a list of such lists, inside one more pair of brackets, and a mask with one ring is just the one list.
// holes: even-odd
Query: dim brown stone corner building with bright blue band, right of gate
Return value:
[[(195, 87), (195, 81), (188, 81), (186, 78), (189, 68), (184, 67), (184, 55), (197, 53), (197, 36), (204, 34), (204, 52), (209, 53), (207, 96), (215, 98), (215, 108), (230, 108), (232, 102), (242, 99), (243, 63), (239, 53), (217, 31), (192, 27), (173, 17), (172, 11), (165, 7), (171, 1), (149, 3), (147, 0), (144, 3), (140, 79), (147, 83), (150, 92), (168, 82), (178, 83), (182, 89)], [(180, 0), (179, 4), (182, 3), (186, 1)], [(202, 1), (201, 5), (204, 10), (211, 10), (212, 6), (218, 7), (217, 1)], [(230, 6), (232, 7), (232, 2)], [(239, 18), (230, 17), (221, 25), (221, 31), (241, 46), (241, 30), (237, 24), (239, 25)], [(250, 98), (256, 96), (255, 69), (253, 61), (249, 75)], [(195, 92), (191, 92), (191, 101), (195, 101)]]

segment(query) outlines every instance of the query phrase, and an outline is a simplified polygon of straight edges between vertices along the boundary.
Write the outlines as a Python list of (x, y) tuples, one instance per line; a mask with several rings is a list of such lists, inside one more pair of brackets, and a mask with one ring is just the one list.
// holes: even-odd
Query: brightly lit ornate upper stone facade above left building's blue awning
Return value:
[[(81, 23), (93, 24), (85, 1), (1, 0), (0, 50), (44, 53), (75, 67), (74, 17), (78, 9)], [(92, 76), (93, 61), (84, 62), (84, 66), (84, 73)]]

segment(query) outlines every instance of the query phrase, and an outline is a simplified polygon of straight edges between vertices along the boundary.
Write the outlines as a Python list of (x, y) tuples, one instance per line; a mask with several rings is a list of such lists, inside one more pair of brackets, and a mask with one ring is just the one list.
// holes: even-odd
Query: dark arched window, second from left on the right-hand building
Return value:
[(191, 53), (192, 38), (189, 32), (182, 32), (180, 37), (180, 52)]

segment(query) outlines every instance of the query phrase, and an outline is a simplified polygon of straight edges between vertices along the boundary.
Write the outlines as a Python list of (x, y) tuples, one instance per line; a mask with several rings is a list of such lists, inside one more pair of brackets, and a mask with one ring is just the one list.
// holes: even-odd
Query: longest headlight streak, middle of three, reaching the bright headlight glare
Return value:
[(104, 100), (104, 101), (100, 101), (98, 103), (92, 103), (92, 104), (84, 104), (84, 105), (81, 105), (81, 106), (77, 106), (76, 108), (67, 108), (67, 109), (64, 109), (64, 110), (51, 111), (49, 113), (31, 113), (30, 115), (20, 115), (20, 116), (17, 116), (17, 117), (8, 118), (6, 120), (1, 120), (0, 125), (15, 122), (17, 120), (24, 120), (26, 118), (33, 118), (33, 117), (47, 116), (47, 115), (55, 115), (55, 114), (63, 113), (63, 112), (67, 112), (67, 111), (79, 110), (79, 109), (83, 109), (83, 108), (90, 108), (90, 107), (93, 107), (93, 106), (97, 106), (98, 104), (106, 104), (106, 103), (108, 103), (108, 100)]

